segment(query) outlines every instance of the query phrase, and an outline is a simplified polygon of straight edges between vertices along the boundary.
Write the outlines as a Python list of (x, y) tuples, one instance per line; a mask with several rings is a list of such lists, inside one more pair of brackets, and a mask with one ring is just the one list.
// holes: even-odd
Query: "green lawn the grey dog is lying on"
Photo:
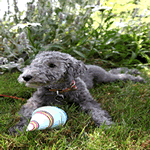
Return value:
[[(110, 129), (98, 128), (91, 118), (75, 105), (65, 106), (68, 115), (60, 129), (24, 132), (9, 135), (8, 129), (19, 116), (23, 100), (0, 97), (0, 149), (29, 150), (145, 150), (150, 149), (150, 78), (147, 70), (142, 76), (147, 83), (128, 81), (107, 83), (91, 89), (94, 99), (101, 103), (116, 123)], [(0, 76), (0, 94), (28, 99), (33, 89), (17, 82), (18, 72)]]

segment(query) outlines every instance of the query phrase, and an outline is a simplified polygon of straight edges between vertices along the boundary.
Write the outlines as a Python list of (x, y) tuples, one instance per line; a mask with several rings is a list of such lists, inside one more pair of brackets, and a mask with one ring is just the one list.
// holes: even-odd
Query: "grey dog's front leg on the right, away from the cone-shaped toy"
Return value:
[(97, 126), (100, 126), (104, 123), (109, 126), (111, 124), (114, 124), (111, 121), (111, 117), (109, 116), (108, 112), (102, 110), (100, 104), (93, 99), (89, 90), (86, 88), (85, 83), (80, 80), (80, 83), (78, 84), (79, 84), (77, 90), (78, 99), (75, 101), (79, 103), (82, 110), (91, 115), (92, 119), (94, 120)]

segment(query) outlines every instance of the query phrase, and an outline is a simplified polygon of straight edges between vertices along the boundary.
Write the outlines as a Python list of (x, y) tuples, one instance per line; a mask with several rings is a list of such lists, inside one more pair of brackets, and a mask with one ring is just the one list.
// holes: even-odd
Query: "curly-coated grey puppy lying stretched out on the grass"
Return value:
[(63, 105), (67, 102), (79, 104), (83, 111), (91, 115), (97, 126), (111, 126), (114, 123), (108, 112), (102, 110), (88, 89), (92, 88), (94, 83), (117, 80), (144, 81), (142, 77), (127, 74), (128, 71), (126, 68), (125, 70), (125, 74), (119, 73), (121, 69), (107, 72), (99, 66), (85, 65), (71, 55), (58, 51), (39, 53), (18, 78), (20, 83), (24, 82), (27, 87), (37, 88), (37, 91), (22, 106), (19, 112), (20, 122), (9, 131), (23, 131), (28, 119), (38, 107)]

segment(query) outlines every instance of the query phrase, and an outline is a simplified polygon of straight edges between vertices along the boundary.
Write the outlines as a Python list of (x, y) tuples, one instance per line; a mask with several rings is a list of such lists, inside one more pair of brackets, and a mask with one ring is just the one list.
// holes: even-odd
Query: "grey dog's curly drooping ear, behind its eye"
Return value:
[(67, 74), (73, 78), (79, 77), (87, 70), (85, 64), (73, 57), (67, 59)]

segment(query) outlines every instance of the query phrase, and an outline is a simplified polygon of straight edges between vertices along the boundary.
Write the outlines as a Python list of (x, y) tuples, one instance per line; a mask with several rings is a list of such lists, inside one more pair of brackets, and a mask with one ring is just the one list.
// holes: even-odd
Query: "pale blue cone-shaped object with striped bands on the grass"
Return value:
[(26, 131), (44, 130), (64, 125), (67, 120), (66, 113), (55, 106), (44, 106), (32, 113), (32, 118)]

